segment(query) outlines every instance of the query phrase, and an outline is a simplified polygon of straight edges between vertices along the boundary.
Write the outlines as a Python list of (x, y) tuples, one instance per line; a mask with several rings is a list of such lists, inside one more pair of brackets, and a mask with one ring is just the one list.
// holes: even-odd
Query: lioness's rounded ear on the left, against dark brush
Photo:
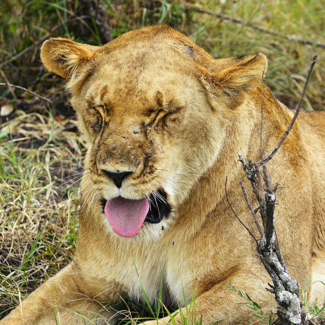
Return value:
[(48, 71), (64, 79), (71, 79), (79, 68), (94, 58), (93, 48), (95, 47), (58, 37), (43, 43), (41, 59)]

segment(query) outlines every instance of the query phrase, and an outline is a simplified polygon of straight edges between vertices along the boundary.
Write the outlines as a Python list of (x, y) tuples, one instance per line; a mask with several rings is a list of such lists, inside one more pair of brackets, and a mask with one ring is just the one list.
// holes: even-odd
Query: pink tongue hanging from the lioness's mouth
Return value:
[(148, 199), (129, 200), (121, 197), (107, 201), (105, 214), (114, 233), (122, 237), (135, 237), (149, 211)]

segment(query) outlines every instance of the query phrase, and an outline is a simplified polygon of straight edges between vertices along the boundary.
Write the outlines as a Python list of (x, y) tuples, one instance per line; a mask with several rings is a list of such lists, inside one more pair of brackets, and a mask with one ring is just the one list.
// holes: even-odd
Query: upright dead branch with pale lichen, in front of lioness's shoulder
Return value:
[[(234, 210), (231, 203), (229, 202), (227, 187), (226, 187), (227, 180), (225, 182), (226, 201), (228, 202), (236, 218), (241, 222), (241, 224), (245, 227), (245, 229), (248, 231), (250, 236), (255, 240), (257, 256), (259, 257), (265, 269), (267, 270), (270, 277), (272, 278), (274, 285), (270, 285), (271, 289), (270, 288), (266, 288), (266, 289), (275, 295), (275, 299), (278, 303), (277, 316), (281, 320), (283, 325), (292, 325), (292, 324), (305, 325), (308, 323), (308, 321), (305, 319), (305, 315), (302, 314), (302, 309), (301, 309), (302, 304), (300, 302), (298, 282), (295, 279), (290, 277), (279, 248), (278, 238), (275, 231), (275, 216), (274, 216), (274, 209), (276, 204), (276, 190), (278, 188), (278, 185), (276, 185), (275, 187), (272, 185), (271, 176), (265, 163), (267, 163), (267, 161), (270, 161), (273, 155), (280, 148), (281, 144), (289, 134), (291, 128), (293, 127), (298, 117), (302, 103), (305, 98), (310, 76), (316, 62), (316, 57), (317, 55), (315, 54), (308, 72), (308, 76), (306, 79), (304, 90), (301, 95), (300, 102), (296, 109), (296, 113), (293, 119), (291, 120), (286, 132), (283, 134), (282, 138), (280, 139), (279, 143), (266, 157), (263, 157), (262, 147), (261, 147), (261, 155), (262, 155), (261, 160), (256, 161), (255, 163), (253, 163), (251, 160), (249, 160), (248, 163), (246, 163), (244, 157), (240, 153), (238, 154), (239, 161), (243, 165), (243, 169), (245, 171), (248, 180), (252, 185), (252, 190), (255, 194), (256, 200), (259, 205), (258, 211), (261, 214), (264, 231), (262, 230), (262, 227), (259, 224), (258, 218), (256, 216), (257, 210), (254, 210), (252, 208), (252, 205), (248, 200), (246, 189), (243, 183), (241, 182), (241, 187), (242, 187), (245, 201), (253, 216), (258, 232), (262, 237), (261, 240), (257, 241), (254, 235), (252, 234), (252, 232), (238, 217), (236, 211)], [(262, 78), (262, 82), (263, 82), (263, 78)], [(263, 96), (263, 91), (261, 90), (261, 109), (263, 114), (262, 96)], [(262, 139), (262, 125), (263, 124), (261, 123), (261, 139)], [(261, 171), (259, 170), (261, 166), (263, 170), (263, 177)]]

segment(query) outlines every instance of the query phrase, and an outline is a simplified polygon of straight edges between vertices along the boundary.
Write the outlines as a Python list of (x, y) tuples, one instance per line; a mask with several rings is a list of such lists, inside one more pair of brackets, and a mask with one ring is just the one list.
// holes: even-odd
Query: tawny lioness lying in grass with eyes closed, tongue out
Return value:
[[(102, 312), (101, 302), (141, 300), (141, 283), (153, 302), (161, 279), (168, 306), (184, 301), (183, 290), (188, 301), (196, 294), (203, 324), (255, 320), (226, 290), (229, 282), (270, 308), (270, 279), (224, 190), (228, 176), (230, 200), (254, 229), (237, 152), (260, 156), (265, 55), (215, 59), (177, 30), (156, 25), (102, 47), (50, 39), (41, 58), (67, 79), (89, 146), (78, 245), (74, 261), (0, 324), (113, 324), (115, 311)], [(263, 102), (268, 153), (293, 113), (268, 88)], [(283, 185), (280, 246), (286, 262), (300, 267), (289, 270), (301, 285), (310, 273), (312, 281), (325, 278), (324, 139), (325, 112), (301, 113), (268, 163), (274, 183)]]

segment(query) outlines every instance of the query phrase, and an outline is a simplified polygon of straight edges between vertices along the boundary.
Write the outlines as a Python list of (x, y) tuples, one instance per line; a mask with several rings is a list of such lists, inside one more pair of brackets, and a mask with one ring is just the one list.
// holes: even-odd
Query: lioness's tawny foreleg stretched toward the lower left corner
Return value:
[(81, 276), (71, 263), (28, 296), (0, 325), (79, 325), (108, 323), (105, 306), (80, 289)]

